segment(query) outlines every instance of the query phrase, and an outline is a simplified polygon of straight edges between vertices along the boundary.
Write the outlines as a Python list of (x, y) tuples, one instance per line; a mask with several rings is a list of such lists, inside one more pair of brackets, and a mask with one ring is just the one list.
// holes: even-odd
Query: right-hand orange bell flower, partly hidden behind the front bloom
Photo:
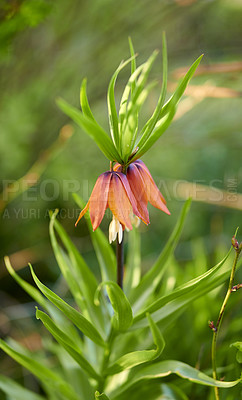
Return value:
[[(120, 171), (121, 165), (116, 164), (114, 169)], [(170, 215), (170, 211), (166, 207), (166, 201), (143, 161), (136, 160), (131, 163), (127, 168), (126, 176), (135, 197), (141, 219), (146, 222), (146, 224), (150, 222), (147, 209), (148, 202)]]

